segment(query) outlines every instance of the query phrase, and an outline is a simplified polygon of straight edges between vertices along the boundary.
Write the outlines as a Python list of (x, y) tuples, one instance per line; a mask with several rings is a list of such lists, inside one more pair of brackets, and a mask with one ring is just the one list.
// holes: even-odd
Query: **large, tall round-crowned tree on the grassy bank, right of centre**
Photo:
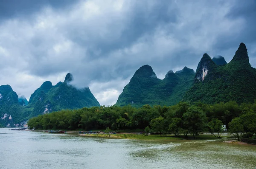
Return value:
[(183, 129), (188, 130), (188, 132), (191, 135), (193, 135), (193, 138), (195, 138), (195, 135), (199, 135), (199, 132), (204, 130), (206, 115), (201, 109), (201, 107), (197, 107), (197, 106), (189, 107), (186, 113), (183, 114), (183, 119), (184, 119)]

